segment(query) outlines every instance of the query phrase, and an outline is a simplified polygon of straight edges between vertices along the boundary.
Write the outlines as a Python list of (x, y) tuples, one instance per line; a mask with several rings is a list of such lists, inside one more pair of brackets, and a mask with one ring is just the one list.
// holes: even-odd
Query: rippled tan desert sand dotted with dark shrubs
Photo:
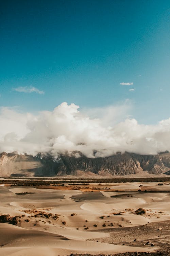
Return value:
[[(139, 185), (142, 185), (141, 192), (138, 192)], [(156, 183), (105, 185), (117, 191), (100, 191), (104, 184), (94, 186), (99, 190), (0, 187), (0, 215), (19, 216), (16, 225), (0, 223), (0, 255), (113, 255), (155, 252), (162, 248), (156, 240), (153, 247), (144, 245), (146, 233), (150, 233), (150, 240), (160, 236), (158, 240), (169, 248), (168, 182), (163, 186)], [(145, 214), (135, 214), (138, 208), (145, 209)]]

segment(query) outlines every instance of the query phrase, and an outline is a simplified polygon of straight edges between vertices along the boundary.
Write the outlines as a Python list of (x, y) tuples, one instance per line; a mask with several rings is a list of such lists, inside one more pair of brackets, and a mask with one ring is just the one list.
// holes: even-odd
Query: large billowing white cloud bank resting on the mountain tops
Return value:
[[(66, 102), (53, 111), (37, 115), (1, 108), (0, 152), (33, 155), (41, 152), (58, 156), (76, 151), (87, 157), (105, 157), (117, 151), (140, 154), (170, 151), (170, 118), (157, 125), (140, 125), (134, 118), (126, 118), (123, 110), (126, 107), (127, 103), (122, 108), (104, 108), (100, 118), (92, 118), (93, 113), (79, 111), (79, 106)], [(112, 109), (118, 113), (112, 113)], [(119, 113), (122, 120), (117, 118)]]

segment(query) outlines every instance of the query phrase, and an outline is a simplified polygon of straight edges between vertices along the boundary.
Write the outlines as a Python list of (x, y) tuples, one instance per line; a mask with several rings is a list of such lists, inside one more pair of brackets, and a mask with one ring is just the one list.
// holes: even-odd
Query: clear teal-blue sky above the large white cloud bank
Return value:
[(169, 7), (169, 0), (1, 1), (0, 106), (40, 111), (130, 99), (139, 123), (169, 118)]

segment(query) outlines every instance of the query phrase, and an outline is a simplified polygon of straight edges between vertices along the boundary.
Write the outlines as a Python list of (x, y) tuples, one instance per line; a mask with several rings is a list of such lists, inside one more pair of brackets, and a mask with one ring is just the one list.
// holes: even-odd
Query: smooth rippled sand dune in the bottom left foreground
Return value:
[[(11, 232), (9, 232), (9, 230)], [(16, 247), (17, 253), (24, 253), (24, 255), (27, 255), (25, 253), (28, 253), (29, 249), (31, 254), (35, 255), (37, 251), (36, 247), (39, 247), (39, 250), (42, 250), (44, 244), (46, 244), (46, 247), (48, 246), (49, 248), (52, 248), (54, 255), (57, 255), (57, 253), (62, 253), (62, 255), (67, 255), (71, 253), (110, 254), (126, 252), (127, 250), (131, 252), (138, 250), (142, 252), (148, 251), (148, 249), (146, 248), (103, 244), (92, 241), (68, 240), (64, 236), (43, 231), (12, 228), (10, 224), (0, 224), (0, 231), (1, 255), (3, 255), (3, 253), (6, 253), (6, 255), (10, 255), (10, 250), (5, 250), (5, 247)], [(22, 251), (18, 251), (19, 247), (24, 247), (25, 250), (22, 249)], [(150, 249), (150, 251), (154, 250)], [(16, 252), (14, 252), (12, 255), (16, 255), (15, 253)]]

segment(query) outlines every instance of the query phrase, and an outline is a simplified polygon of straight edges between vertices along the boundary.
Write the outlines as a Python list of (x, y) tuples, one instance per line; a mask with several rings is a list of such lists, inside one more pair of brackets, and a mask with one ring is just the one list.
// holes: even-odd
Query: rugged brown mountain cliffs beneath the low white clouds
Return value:
[(133, 153), (117, 154), (104, 158), (61, 155), (60, 158), (16, 153), (0, 154), (0, 176), (56, 176), (99, 174), (128, 175), (148, 170), (151, 174), (165, 173), (170, 170), (170, 153), (138, 155)]

